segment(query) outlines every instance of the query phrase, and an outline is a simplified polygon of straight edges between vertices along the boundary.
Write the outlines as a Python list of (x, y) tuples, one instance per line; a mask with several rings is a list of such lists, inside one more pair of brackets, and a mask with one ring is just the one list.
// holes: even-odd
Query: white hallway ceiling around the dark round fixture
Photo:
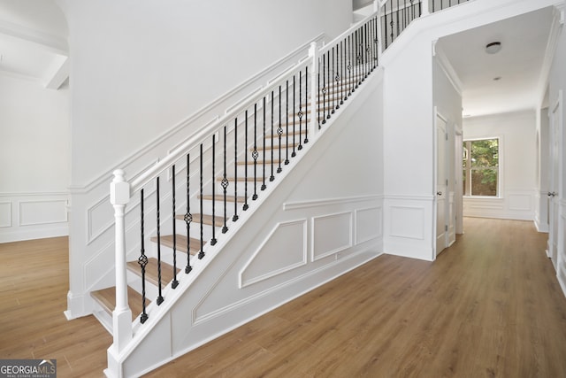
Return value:
[[(437, 48), (454, 68), (463, 93), (463, 115), (535, 109), (553, 19), (552, 7), (440, 38)], [(486, 44), (501, 42), (490, 55)], [(494, 78), (501, 78), (494, 81)]]

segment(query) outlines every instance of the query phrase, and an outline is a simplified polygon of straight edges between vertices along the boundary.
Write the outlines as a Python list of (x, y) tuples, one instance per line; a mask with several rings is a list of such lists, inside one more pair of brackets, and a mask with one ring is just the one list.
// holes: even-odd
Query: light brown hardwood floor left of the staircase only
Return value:
[(57, 359), (57, 377), (102, 377), (112, 338), (93, 316), (68, 321), (66, 237), (0, 244), (0, 359)]

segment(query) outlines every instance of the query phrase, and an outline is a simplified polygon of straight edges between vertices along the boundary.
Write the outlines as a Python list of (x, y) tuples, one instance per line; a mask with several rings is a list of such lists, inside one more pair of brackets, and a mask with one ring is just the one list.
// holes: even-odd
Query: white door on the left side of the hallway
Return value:
[(447, 122), (436, 115), (436, 256), (447, 246)]

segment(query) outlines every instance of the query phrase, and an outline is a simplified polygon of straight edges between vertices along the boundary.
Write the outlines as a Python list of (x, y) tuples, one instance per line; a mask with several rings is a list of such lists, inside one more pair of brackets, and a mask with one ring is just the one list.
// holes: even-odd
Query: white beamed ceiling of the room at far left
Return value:
[(0, 0), (0, 74), (58, 89), (69, 75), (67, 34), (54, 0)]

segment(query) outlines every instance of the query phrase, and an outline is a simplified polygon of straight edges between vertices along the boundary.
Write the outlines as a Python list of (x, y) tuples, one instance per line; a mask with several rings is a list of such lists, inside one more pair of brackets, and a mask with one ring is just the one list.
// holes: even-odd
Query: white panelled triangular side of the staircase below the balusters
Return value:
[[(124, 351), (109, 349), (108, 376), (147, 373), (383, 252), (382, 78), (371, 73), (223, 242), (164, 291)], [(289, 256), (279, 258), (281, 243)]]

